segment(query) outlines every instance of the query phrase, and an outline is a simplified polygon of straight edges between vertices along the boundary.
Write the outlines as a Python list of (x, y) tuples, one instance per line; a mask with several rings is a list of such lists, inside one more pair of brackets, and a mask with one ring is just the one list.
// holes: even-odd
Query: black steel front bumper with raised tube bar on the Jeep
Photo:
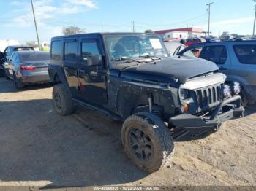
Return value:
[(222, 103), (206, 117), (197, 117), (192, 114), (179, 114), (175, 117), (171, 117), (169, 122), (175, 128), (212, 128), (219, 126), (222, 122), (243, 115), (244, 107), (241, 106), (241, 97), (236, 95), (233, 98), (222, 101)]

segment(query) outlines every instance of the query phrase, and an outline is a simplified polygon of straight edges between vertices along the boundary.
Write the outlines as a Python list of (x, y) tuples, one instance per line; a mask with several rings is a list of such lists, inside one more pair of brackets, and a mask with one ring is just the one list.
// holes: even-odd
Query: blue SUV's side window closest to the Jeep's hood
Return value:
[(227, 50), (225, 46), (205, 47), (200, 58), (212, 61), (216, 64), (225, 64), (227, 61)]

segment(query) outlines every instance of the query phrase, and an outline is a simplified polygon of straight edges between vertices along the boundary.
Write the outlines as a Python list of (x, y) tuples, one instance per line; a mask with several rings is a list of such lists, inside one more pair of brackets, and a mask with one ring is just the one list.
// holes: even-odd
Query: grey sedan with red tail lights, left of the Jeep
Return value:
[(50, 54), (48, 52), (13, 52), (9, 61), (4, 63), (6, 78), (12, 79), (18, 89), (32, 83), (49, 82), (49, 61)]

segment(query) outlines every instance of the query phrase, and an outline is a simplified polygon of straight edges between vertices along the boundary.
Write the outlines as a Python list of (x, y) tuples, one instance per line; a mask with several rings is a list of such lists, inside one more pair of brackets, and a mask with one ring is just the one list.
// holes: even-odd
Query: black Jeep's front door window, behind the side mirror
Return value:
[(100, 55), (97, 42), (82, 42), (81, 50), (82, 63), (87, 65), (87, 57), (90, 55)]

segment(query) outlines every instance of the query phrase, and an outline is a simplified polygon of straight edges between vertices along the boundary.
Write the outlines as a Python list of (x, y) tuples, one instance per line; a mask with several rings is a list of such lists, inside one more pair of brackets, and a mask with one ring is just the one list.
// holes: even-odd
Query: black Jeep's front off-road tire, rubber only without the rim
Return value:
[[(129, 139), (131, 139), (130, 132), (133, 129), (143, 130), (151, 139), (153, 147), (151, 159), (139, 159), (132, 151)], [(128, 117), (124, 121), (121, 130), (121, 139), (129, 160), (143, 171), (152, 173), (160, 168), (170, 167), (174, 154), (173, 138), (165, 123), (156, 115), (149, 112), (140, 112)]]

